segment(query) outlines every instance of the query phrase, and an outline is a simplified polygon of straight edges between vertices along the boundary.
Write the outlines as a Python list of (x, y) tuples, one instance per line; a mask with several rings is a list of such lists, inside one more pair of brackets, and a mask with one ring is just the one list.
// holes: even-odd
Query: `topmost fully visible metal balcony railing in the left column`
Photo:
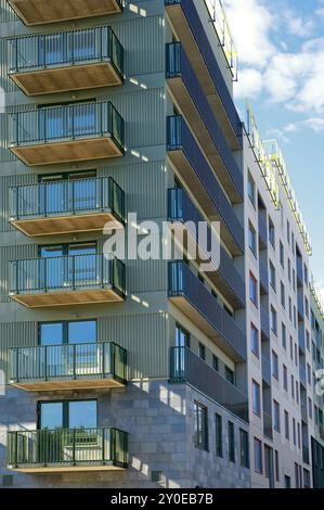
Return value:
[(109, 62), (120, 78), (124, 49), (109, 26), (10, 38), (9, 73)]

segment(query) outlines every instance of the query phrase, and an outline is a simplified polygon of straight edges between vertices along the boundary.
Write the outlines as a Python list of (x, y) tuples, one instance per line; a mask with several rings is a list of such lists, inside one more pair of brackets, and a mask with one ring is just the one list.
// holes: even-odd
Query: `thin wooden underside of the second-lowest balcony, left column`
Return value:
[(113, 375), (105, 379), (99, 379), (98, 377), (92, 379), (91, 377), (83, 378), (80, 375), (77, 380), (75, 379), (60, 379), (56, 378), (49, 381), (20, 381), (12, 382), (11, 385), (24, 390), (26, 392), (55, 392), (64, 390), (94, 390), (94, 388), (113, 388), (124, 387), (126, 383), (115, 379)]

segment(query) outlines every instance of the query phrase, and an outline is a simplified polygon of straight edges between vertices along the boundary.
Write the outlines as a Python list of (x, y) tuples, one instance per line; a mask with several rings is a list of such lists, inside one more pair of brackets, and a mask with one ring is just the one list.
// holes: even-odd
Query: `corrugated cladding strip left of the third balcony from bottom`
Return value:
[(0, 303), (10, 303), (10, 260), (37, 257), (37, 244), (0, 247)]

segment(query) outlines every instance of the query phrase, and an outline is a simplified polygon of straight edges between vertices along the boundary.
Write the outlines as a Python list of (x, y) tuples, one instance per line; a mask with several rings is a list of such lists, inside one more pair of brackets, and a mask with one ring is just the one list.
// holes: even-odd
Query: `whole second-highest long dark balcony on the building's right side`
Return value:
[(243, 201), (243, 175), (179, 42), (167, 44), (168, 88), (233, 203)]

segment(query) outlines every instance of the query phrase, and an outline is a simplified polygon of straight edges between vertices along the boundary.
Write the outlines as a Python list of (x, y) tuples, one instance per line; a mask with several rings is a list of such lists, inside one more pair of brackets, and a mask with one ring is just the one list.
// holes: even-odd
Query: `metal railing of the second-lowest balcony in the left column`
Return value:
[(126, 384), (127, 350), (113, 342), (39, 345), (10, 350), (11, 384), (111, 377)]

